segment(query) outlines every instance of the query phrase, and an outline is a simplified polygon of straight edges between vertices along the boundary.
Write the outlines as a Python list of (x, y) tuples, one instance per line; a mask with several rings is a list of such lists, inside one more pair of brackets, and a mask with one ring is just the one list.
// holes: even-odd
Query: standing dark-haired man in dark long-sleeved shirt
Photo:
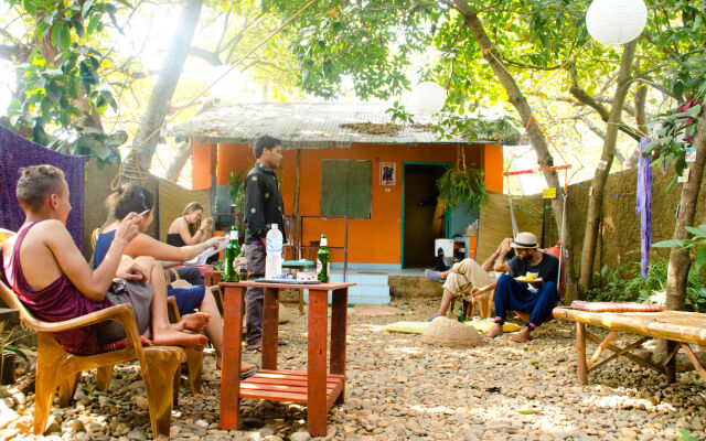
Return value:
[[(285, 237), (285, 204), (274, 169), (282, 162), (281, 141), (263, 136), (255, 141), (257, 162), (245, 179), (245, 257), (248, 279), (265, 276), (265, 238), (272, 224), (277, 224)], [(245, 295), (246, 336), (250, 348), (263, 346), (263, 288), (248, 288)], [(280, 344), (286, 344), (284, 340)]]

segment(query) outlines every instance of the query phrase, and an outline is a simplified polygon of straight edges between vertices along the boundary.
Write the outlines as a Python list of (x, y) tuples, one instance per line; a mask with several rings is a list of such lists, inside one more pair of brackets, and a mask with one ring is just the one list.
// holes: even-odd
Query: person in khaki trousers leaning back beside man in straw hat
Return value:
[(512, 237), (503, 239), (495, 252), (480, 266), (473, 259), (463, 259), (447, 271), (425, 270), (427, 279), (443, 283), (443, 295), (441, 297), (439, 311), (427, 321), (430, 322), (438, 316), (445, 316), (454, 297), (461, 295), (473, 287), (490, 284), (492, 277), (488, 273), (489, 271), (507, 271), (507, 262), (515, 256), (511, 245)]

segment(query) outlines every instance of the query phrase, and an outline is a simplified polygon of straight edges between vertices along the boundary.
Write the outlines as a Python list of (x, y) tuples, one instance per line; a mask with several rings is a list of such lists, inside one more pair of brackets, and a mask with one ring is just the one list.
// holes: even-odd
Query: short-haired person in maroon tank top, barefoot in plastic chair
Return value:
[[(2, 247), (4, 276), (20, 301), (47, 322), (130, 303), (138, 331), (150, 335), (154, 344), (205, 346), (203, 335), (182, 332), (189, 323), (169, 323), (163, 283), (142, 286), (154, 271), (149, 261), (122, 256), (127, 244), (139, 234), (140, 216), (137, 213), (124, 216), (116, 225), (115, 239), (101, 265), (92, 270), (66, 229), (68, 195), (60, 169), (32, 165), (21, 170), (17, 197), (26, 218)], [(114, 282), (115, 277), (120, 279)], [(107, 321), (55, 335), (72, 352), (90, 354), (125, 338), (125, 330), (117, 322)]]

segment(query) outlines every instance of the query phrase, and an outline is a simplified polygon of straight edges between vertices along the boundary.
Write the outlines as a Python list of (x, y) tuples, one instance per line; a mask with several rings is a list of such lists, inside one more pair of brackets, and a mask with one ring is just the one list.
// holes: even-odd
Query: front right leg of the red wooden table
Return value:
[(309, 289), (309, 349), (307, 366), (308, 426), (312, 437), (327, 434), (328, 291)]

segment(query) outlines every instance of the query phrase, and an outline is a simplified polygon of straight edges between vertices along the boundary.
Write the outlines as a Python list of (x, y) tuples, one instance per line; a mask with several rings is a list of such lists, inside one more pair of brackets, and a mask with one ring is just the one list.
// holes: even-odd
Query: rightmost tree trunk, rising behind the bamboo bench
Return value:
[[(680, 212), (674, 224), (675, 240), (688, 239), (692, 237), (685, 227), (694, 225), (696, 215), (696, 203), (698, 202), (698, 191), (704, 176), (704, 162), (706, 161), (706, 112), (702, 111), (698, 119), (698, 128), (694, 140), (696, 148), (696, 162), (688, 168), (688, 182), (682, 186), (682, 197), (680, 200)], [(666, 309), (674, 311), (684, 310), (686, 299), (686, 277), (692, 265), (688, 249), (670, 255), (670, 267), (666, 276)]]

